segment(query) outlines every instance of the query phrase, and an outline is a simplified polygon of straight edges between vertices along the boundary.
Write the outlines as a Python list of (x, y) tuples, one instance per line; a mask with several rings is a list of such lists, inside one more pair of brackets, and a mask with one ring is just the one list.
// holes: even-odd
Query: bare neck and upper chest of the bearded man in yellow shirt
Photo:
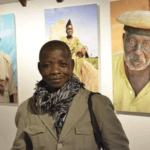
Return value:
[(130, 70), (128, 66), (125, 64), (125, 73), (136, 96), (150, 81), (150, 65), (143, 70), (137, 71), (137, 70)]

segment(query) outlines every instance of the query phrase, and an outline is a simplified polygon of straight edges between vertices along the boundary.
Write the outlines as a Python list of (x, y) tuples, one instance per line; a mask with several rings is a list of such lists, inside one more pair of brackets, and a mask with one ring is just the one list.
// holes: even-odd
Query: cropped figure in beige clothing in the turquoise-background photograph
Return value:
[(17, 103), (17, 89), (10, 57), (0, 51), (0, 103)]

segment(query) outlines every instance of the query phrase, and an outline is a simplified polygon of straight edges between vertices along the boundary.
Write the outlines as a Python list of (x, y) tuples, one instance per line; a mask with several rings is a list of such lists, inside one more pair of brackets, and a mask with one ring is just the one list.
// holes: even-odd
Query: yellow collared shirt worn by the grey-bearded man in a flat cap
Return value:
[(150, 113), (150, 81), (135, 97), (124, 69), (124, 53), (113, 55), (113, 94), (116, 111)]

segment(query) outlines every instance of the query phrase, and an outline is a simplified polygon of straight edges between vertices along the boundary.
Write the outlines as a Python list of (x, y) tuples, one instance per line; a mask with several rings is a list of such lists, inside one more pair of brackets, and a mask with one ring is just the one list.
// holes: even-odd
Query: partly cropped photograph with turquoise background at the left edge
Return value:
[(0, 104), (17, 103), (14, 14), (0, 16)]

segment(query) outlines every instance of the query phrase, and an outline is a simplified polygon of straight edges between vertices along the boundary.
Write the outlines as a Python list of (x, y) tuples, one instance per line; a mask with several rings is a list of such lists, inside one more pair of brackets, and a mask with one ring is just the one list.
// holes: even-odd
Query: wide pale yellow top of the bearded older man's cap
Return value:
[(116, 20), (126, 26), (150, 29), (150, 11), (127, 11), (120, 14)]

